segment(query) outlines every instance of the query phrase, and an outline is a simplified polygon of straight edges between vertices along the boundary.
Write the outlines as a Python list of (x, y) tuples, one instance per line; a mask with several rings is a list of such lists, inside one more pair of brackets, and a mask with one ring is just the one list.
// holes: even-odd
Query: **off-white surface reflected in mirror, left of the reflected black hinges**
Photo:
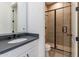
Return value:
[(0, 2), (0, 34), (11, 33), (11, 4)]

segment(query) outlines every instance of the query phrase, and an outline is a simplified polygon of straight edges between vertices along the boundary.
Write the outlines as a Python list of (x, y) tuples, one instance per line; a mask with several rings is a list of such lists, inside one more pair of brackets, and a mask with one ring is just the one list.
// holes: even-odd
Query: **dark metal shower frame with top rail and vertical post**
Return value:
[[(46, 11), (46, 12), (54, 11), (54, 47), (51, 47), (51, 48), (53, 48), (53, 49), (61, 50), (61, 49), (58, 49), (58, 48), (57, 48), (57, 44), (56, 44), (56, 40), (57, 40), (57, 39), (56, 39), (56, 10), (64, 9), (64, 8), (66, 8), (66, 7), (70, 7), (70, 12), (71, 12), (71, 5)], [(71, 15), (71, 13), (70, 13), (70, 15)], [(70, 19), (71, 19), (71, 17), (70, 17)], [(70, 26), (70, 27), (71, 27), (71, 26)], [(71, 29), (70, 29), (70, 32), (71, 32)], [(63, 34), (63, 35), (64, 35), (64, 34)], [(71, 44), (71, 43), (70, 43), (70, 44)], [(61, 51), (64, 51), (64, 50), (61, 50)], [(68, 51), (66, 51), (66, 52), (68, 52)]]

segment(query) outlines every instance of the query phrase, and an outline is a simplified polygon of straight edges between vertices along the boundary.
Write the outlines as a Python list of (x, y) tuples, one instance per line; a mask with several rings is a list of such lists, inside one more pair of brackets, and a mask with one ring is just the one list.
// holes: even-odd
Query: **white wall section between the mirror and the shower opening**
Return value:
[(39, 34), (39, 56), (45, 56), (45, 5), (43, 2), (28, 3), (28, 32)]

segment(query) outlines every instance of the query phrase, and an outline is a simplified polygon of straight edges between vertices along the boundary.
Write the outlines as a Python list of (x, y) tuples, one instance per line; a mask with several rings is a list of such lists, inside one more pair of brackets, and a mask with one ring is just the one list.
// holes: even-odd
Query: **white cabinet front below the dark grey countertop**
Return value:
[[(4, 53), (4, 54), (0, 55), (0, 57), (27, 57), (29, 55), (31, 56), (32, 54), (34, 54), (33, 56), (37, 56), (38, 55), (37, 54), (38, 48), (36, 46), (38, 46), (38, 40), (35, 40), (31, 43), (25, 44), (21, 47), (18, 47), (16, 49), (13, 49), (13, 50), (7, 52), (7, 53)], [(33, 53), (31, 53), (31, 51)]]

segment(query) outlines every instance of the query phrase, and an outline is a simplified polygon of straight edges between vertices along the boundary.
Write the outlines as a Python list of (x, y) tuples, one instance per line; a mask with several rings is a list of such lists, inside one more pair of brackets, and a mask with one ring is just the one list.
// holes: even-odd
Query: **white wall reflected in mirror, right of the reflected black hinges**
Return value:
[(17, 32), (27, 32), (27, 3), (17, 3)]

